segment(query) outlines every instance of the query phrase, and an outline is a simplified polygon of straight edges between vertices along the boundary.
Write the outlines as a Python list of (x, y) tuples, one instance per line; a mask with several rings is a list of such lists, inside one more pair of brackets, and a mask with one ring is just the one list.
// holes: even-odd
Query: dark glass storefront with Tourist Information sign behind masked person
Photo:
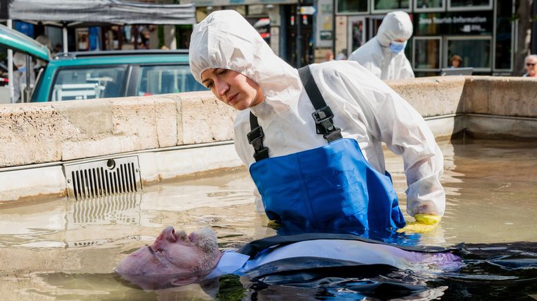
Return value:
[[(321, 0), (320, 0), (321, 1)], [(384, 16), (404, 10), (414, 31), (405, 53), (416, 76), (438, 75), (453, 55), (474, 74), (510, 75), (516, 47), (514, 0), (334, 0), (335, 52), (374, 37)]]

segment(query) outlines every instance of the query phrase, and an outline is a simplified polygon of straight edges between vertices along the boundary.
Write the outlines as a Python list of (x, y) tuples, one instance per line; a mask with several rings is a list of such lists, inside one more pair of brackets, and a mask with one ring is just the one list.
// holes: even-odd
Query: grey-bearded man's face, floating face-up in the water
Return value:
[(115, 271), (144, 289), (186, 285), (211, 273), (220, 255), (211, 229), (186, 235), (168, 226), (153, 244), (119, 262)]

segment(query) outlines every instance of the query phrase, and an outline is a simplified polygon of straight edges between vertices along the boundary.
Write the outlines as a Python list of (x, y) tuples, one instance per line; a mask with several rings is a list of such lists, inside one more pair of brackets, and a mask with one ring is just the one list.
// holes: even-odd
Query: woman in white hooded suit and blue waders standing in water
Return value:
[(239, 110), (235, 148), (269, 219), (315, 229), (404, 227), (385, 142), (404, 159), (407, 211), (417, 220), (406, 229), (440, 221), (443, 156), (431, 130), (362, 66), (329, 61), (299, 71), (233, 10), (194, 27), (189, 61), (197, 81)]

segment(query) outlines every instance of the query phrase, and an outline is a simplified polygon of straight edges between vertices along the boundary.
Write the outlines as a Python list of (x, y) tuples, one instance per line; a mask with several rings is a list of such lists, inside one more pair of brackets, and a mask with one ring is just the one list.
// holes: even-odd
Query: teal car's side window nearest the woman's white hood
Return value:
[(188, 65), (140, 66), (135, 95), (207, 90), (192, 76)]

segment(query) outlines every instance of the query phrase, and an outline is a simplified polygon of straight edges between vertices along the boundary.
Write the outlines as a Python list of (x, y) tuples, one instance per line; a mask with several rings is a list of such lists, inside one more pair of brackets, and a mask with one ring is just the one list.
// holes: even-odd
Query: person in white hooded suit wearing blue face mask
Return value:
[(412, 35), (412, 21), (402, 11), (390, 12), (384, 17), (377, 35), (349, 56), (382, 80), (409, 79), (414, 72), (404, 48)]

